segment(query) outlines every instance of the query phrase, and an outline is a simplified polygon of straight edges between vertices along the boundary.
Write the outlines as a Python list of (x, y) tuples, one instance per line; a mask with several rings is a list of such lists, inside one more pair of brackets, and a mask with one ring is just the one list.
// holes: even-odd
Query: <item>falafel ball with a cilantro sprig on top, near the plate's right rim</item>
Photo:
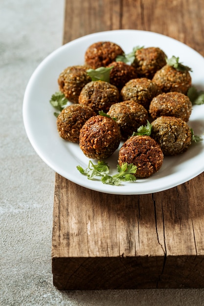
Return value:
[(162, 92), (178, 91), (186, 94), (191, 87), (189, 71), (180, 71), (169, 65), (159, 69), (152, 78), (152, 81), (157, 84)]

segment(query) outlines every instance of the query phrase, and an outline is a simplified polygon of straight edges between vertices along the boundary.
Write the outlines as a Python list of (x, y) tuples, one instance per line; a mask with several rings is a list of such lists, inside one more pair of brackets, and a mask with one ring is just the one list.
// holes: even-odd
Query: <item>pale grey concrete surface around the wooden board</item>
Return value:
[(52, 284), (54, 172), (31, 147), (23, 94), (62, 44), (63, 0), (0, 1), (0, 306), (200, 306), (204, 290), (58, 291)]

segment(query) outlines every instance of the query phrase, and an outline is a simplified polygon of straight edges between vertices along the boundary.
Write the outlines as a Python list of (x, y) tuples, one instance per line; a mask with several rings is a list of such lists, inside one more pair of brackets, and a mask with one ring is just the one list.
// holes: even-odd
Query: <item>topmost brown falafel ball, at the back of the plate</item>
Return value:
[(122, 48), (113, 42), (97, 42), (86, 50), (85, 64), (92, 69), (106, 67), (122, 54), (124, 54)]

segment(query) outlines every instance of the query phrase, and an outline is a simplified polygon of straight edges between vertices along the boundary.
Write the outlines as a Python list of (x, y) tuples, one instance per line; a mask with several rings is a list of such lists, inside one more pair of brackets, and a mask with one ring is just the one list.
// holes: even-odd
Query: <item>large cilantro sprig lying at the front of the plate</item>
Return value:
[(124, 163), (122, 166), (117, 165), (117, 174), (109, 175), (109, 166), (105, 161), (98, 161), (97, 165), (94, 165), (92, 161), (89, 161), (89, 165), (86, 169), (83, 169), (81, 166), (76, 167), (78, 171), (86, 175), (88, 179), (95, 179), (96, 177), (101, 177), (103, 184), (121, 185), (121, 181), (136, 181), (136, 169), (137, 167), (133, 164)]

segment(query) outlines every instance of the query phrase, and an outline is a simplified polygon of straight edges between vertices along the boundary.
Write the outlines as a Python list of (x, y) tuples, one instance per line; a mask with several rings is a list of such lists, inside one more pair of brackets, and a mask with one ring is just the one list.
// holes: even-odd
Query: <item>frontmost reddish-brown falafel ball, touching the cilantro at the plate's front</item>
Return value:
[(136, 177), (146, 178), (161, 168), (163, 153), (159, 144), (150, 136), (132, 136), (119, 150), (118, 164), (134, 164)]

